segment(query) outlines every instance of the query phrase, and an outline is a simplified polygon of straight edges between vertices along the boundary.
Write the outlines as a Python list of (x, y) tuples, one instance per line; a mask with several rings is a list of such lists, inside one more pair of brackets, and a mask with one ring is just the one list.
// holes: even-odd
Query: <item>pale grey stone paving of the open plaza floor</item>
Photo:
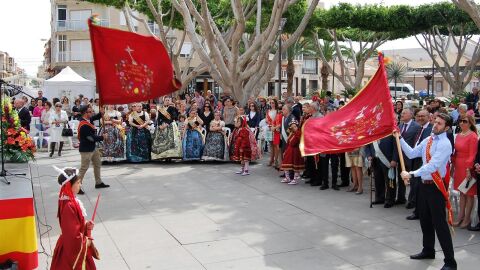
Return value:
[[(59, 185), (51, 165), (79, 167), (78, 152), (31, 163), (38, 215), (52, 230), (41, 238), (53, 253), (59, 234)], [(404, 207), (369, 208), (369, 195), (280, 183), (263, 164), (252, 175), (229, 163), (149, 163), (103, 166), (109, 189), (95, 190), (90, 169), (80, 196), (91, 215), (102, 193), (95, 243), (98, 269), (317, 270), (439, 269), (412, 261), (421, 250), (418, 221)], [(367, 189), (365, 189), (367, 190)], [(42, 232), (46, 227), (40, 226)], [(478, 269), (480, 234), (457, 230), (459, 269)], [(438, 246), (438, 243), (437, 243)], [(39, 251), (42, 247), (39, 245)], [(40, 254), (39, 269), (47, 256)]]

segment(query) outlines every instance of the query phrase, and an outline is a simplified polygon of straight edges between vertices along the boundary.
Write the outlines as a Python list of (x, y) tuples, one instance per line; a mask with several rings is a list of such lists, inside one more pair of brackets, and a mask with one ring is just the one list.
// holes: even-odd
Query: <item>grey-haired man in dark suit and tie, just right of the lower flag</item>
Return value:
[[(400, 121), (402, 123), (399, 127), (400, 135), (405, 140), (405, 142), (410, 145), (410, 147), (413, 147), (415, 144), (416, 136), (420, 131), (421, 127), (418, 123), (413, 121), (412, 109), (403, 109), (402, 114), (400, 115)], [(405, 161), (405, 169), (407, 171), (411, 171), (413, 166), (413, 160), (409, 159), (407, 156), (405, 156), (405, 154), (403, 155), (403, 159)], [(400, 170), (397, 171), (398, 175), (400, 175)], [(400, 176), (398, 177), (398, 179), (400, 180), (398, 181), (398, 187), (395, 181), (393, 181), (391, 185), (387, 185), (386, 206), (391, 207), (393, 206), (393, 204), (405, 204), (407, 202), (407, 199), (405, 197), (405, 184), (401, 180)]]

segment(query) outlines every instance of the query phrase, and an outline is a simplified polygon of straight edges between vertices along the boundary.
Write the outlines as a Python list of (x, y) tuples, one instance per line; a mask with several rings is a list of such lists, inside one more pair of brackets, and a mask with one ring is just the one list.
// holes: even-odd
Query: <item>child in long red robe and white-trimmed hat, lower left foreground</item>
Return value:
[(98, 253), (90, 238), (92, 221), (85, 221), (86, 211), (75, 196), (82, 186), (74, 168), (58, 169), (58, 183), (62, 185), (58, 198), (58, 220), (62, 234), (53, 252), (51, 270), (92, 270), (96, 269), (93, 256)]

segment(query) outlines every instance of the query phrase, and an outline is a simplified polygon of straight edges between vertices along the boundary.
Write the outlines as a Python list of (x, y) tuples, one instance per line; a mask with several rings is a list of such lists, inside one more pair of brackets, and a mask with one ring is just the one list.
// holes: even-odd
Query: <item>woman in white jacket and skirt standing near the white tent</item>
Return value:
[(68, 123), (67, 112), (62, 110), (62, 104), (57, 102), (55, 104), (55, 110), (49, 114), (49, 124), (50, 124), (50, 157), (53, 157), (55, 152), (55, 145), (58, 143), (58, 156), (62, 155), (63, 143), (68, 141), (68, 137), (62, 136), (63, 128), (66, 127)]

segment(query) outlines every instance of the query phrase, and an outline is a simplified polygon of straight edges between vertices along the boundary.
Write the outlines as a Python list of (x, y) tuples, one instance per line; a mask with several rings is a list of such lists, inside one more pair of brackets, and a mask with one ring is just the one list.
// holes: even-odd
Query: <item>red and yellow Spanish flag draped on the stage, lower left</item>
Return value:
[(17, 261), (19, 269), (38, 267), (33, 198), (0, 200), (0, 263)]

